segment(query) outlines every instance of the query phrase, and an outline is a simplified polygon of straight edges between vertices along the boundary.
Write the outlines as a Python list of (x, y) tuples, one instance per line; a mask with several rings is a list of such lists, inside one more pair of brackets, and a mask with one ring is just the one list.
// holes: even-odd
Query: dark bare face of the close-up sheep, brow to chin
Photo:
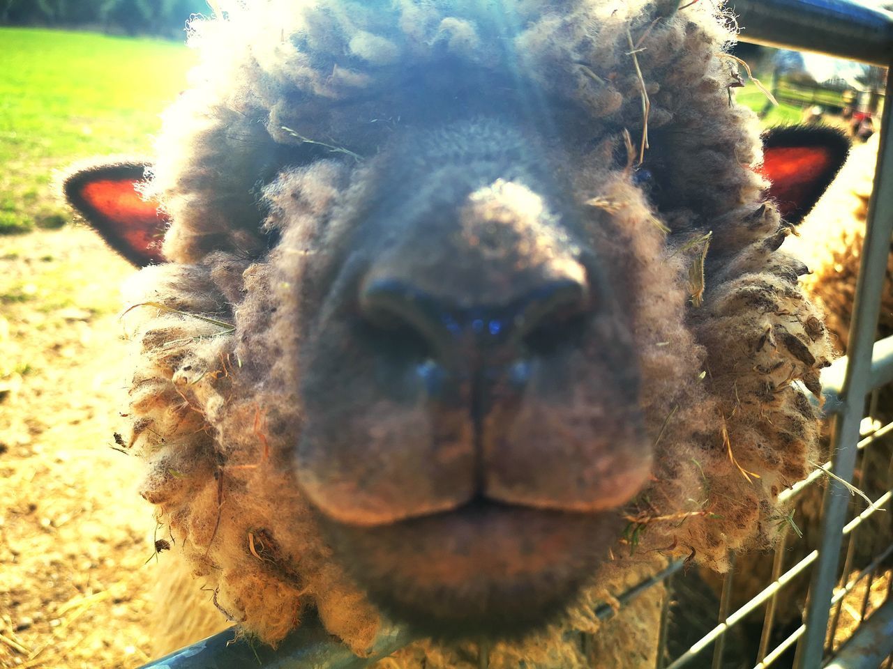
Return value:
[(342, 176), (325, 278), (284, 296), (297, 481), (357, 581), (431, 629), (565, 603), (651, 469), (622, 277), (555, 144), (498, 118), (397, 136)]

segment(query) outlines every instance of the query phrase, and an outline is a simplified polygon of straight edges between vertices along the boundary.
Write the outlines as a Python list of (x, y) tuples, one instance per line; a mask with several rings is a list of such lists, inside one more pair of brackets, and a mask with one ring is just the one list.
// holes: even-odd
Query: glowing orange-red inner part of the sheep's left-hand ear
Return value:
[(158, 246), (167, 217), (158, 202), (144, 200), (132, 179), (101, 179), (86, 184), (80, 194), (87, 204), (113, 225), (114, 235), (147, 260), (163, 262)]

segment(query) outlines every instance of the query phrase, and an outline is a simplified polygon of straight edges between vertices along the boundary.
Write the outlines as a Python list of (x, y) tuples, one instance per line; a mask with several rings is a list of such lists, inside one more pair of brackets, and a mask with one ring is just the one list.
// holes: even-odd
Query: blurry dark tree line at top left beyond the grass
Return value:
[(189, 16), (210, 12), (205, 0), (0, 0), (0, 25), (178, 37)]

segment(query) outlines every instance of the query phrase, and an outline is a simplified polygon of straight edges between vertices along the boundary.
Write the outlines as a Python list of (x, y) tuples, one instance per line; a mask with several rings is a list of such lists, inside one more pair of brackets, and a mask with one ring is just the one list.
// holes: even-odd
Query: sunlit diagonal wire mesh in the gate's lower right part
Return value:
[[(893, 359), (889, 356), (889, 347), (893, 345), (893, 339), (885, 340), (880, 343), (877, 348), (877, 356), (875, 368), (883, 370), (884, 376), (889, 377), (893, 373)], [(885, 355), (886, 353), (886, 355)], [(844, 361), (840, 363), (845, 364)], [(837, 370), (835, 370), (837, 371)], [(878, 375), (878, 378), (882, 376)], [(893, 406), (889, 406), (888, 398), (884, 398), (881, 403), (879, 399), (883, 396), (883, 392), (891, 390), (890, 385), (877, 388), (871, 393), (869, 401), (869, 410), (861, 424), (860, 440), (855, 443), (855, 451), (857, 454), (858, 467), (855, 471), (855, 483), (864, 483), (871, 476), (871, 467), (883, 463), (886, 476), (883, 478), (889, 482), (889, 473), (891, 470), (890, 456), (893, 454)], [(829, 402), (833, 403), (836, 395), (832, 393)], [(888, 396), (889, 397), (889, 396)], [(884, 422), (884, 421), (887, 422)], [(814, 472), (804, 481), (784, 491), (781, 495), (783, 501), (796, 504), (802, 496), (814, 494), (817, 489), (825, 488), (825, 494), (838, 494), (836, 491), (828, 492), (831, 488), (828, 483), (835, 482), (833, 478), (833, 468), (830, 461), (822, 463), (821, 467), (817, 467)], [(846, 486), (844, 486), (846, 488)], [(867, 486), (866, 486), (867, 487)], [(772, 556), (772, 573), (765, 582), (764, 588), (757, 592), (747, 602), (740, 604), (738, 607), (732, 607), (732, 593), (735, 591), (735, 581), (740, 570), (734, 565), (730, 573), (725, 576), (722, 582), (722, 597), (718, 605), (718, 619), (713, 629), (707, 631), (704, 636), (697, 640), (690, 648), (686, 649), (678, 657), (673, 657), (669, 663), (664, 662), (663, 658), (672, 655), (672, 651), (666, 647), (666, 634), (660, 636), (661, 647), (658, 649), (658, 667), (661, 669), (680, 669), (681, 667), (692, 666), (711, 666), (719, 667), (753, 667), (754, 669), (763, 669), (768, 666), (791, 666), (797, 665), (801, 667), (818, 667), (822, 662), (834, 657), (840, 650), (847, 648), (847, 643), (852, 640), (860, 629), (861, 624), (886, 605), (891, 587), (893, 587), (893, 579), (891, 579), (891, 566), (893, 566), (893, 543), (886, 545), (877, 545), (878, 540), (889, 541), (890, 533), (873, 532), (868, 527), (872, 520), (877, 521), (879, 516), (889, 508), (890, 500), (893, 498), (891, 491), (879, 492), (874, 499), (865, 499), (864, 494), (855, 485), (852, 490), (844, 492), (847, 497), (848, 513), (847, 522), (836, 531), (835, 528), (823, 526), (824, 532), (833, 532), (838, 535), (843, 542), (843, 561), (839, 566), (839, 576), (833, 584), (833, 590), (830, 599), (825, 600), (824, 607), (828, 612), (828, 622), (825, 632), (818, 635), (817, 638), (822, 640), (820, 664), (806, 665), (804, 663), (803, 652), (798, 644), (805, 637), (808, 621), (805, 619), (797, 619), (795, 624), (785, 624), (776, 617), (778, 612), (778, 604), (780, 599), (789, 596), (792, 591), (792, 585), (797, 579), (808, 577), (814, 572), (819, 561), (819, 550), (811, 549), (805, 552), (805, 555), (791, 550), (791, 544), (802, 541), (801, 536), (797, 536), (800, 531), (796, 524), (786, 524), (781, 532), (780, 540), (776, 545)], [(889, 519), (883, 516), (885, 522), (889, 524)], [(768, 558), (763, 558), (768, 561)], [(672, 591), (672, 588), (671, 588)], [(814, 597), (814, 593), (811, 593)], [(676, 598), (673, 602), (677, 606), (686, 602), (680, 602), (680, 593), (676, 591), (675, 595), (671, 594), (671, 599)], [(684, 595), (682, 595), (684, 599)], [(758, 643), (750, 648), (745, 648), (744, 652), (739, 649), (738, 657), (730, 657), (726, 644), (724, 643), (726, 635), (730, 633), (737, 625), (747, 620), (758, 621), (760, 626), (760, 634)], [(669, 624), (669, 616), (664, 620)], [(879, 646), (880, 651), (884, 651), (882, 644)], [(893, 643), (890, 644), (893, 646)], [(889, 653), (889, 648), (886, 649)], [(799, 657), (797, 657), (799, 654)], [(786, 657), (787, 656), (787, 657)], [(886, 657), (886, 656), (884, 656)], [(883, 659), (883, 658), (881, 658)], [(885, 660), (889, 665), (890, 660)], [(879, 666), (880, 661), (874, 661), (871, 658), (862, 657), (858, 666)], [(850, 665), (847, 665), (850, 666)]]

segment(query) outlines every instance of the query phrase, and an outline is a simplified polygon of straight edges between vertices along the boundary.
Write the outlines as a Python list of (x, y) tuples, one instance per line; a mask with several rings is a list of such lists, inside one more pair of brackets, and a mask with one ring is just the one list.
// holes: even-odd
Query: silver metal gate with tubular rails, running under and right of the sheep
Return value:
[[(696, 0), (697, 1), (697, 0)], [(710, 0), (702, 0), (709, 2)], [(739, 15), (743, 27), (739, 38), (755, 44), (792, 48), (830, 54), (840, 58), (888, 67), (893, 62), (893, 18), (848, 0), (730, 0), (730, 7)], [(893, 78), (888, 78), (887, 100), (893, 101)], [(661, 631), (656, 669), (681, 669), (705, 665), (713, 669), (723, 666), (728, 632), (748, 616), (764, 608), (763, 632), (756, 648), (754, 669), (772, 666), (786, 652), (796, 648), (797, 669), (874, 669), (893, 668), (893, 574), (887, 563), (893, 562), (893, 544), (878, 550), (871, 562), (858, 573), (851, 570), (857, 529), (866, 518), (883, 508), (893, 507), (893, 491), (853, 511), (849, 504), (847, 483), (853, 480), (856, 458), (860, 451), (872, 448), (876, 442), (893, 433), (893, 422), (880, 425), (871, 416), (864, 416), (866, 398), (869, 414), (876, 408), (877, 391), (885, 384), (893, 384), (893, 337), (874, 342), (880, 312), (880, 297), (891, 252), (893, 233), (893, 110), (885, 110), (881, 124), (881, 144), (872, 199), (869, 205), (868, 227), (855, 291), (853, 317), (850, 326), (848, 357), (839, 359), (822, 375), (824, 410), (831, 424), (830, 453), (833, 458), (816, 469), (805, 481), (782, 492), (781, 497), (793, 500), (819, 480), (828, 479), (822, 508), (822, 541), (796, 565), (782, 571), (786, 537), (775, 552), (770, 582), (753, 599), (730, 611), (730, 595), (734, 587), (734, 570), (723, 582), (719, 601), (719, 619), (713, 629), (697, 640), (679, 657), (668, 657), (665, 625)], [(893, 407), (889, 408), (893, 409)], [(826, 472), (831, 475), (826, 476)], [(890, 511), (886, 511), (889, 513)], [(789, 530), (785, 531), (786, 534)], [(847, 542), (846, 557), (841, 564), (841, 549)], [(887, 563), (885, 563), (887, 561)], [(657, 582), (672, 578), (680, 571), (682, 562), (668, 566), (660, 574), (623, 593), (622, 605), (635, 599), (642, 591)], [(775, 624), (774, 615), (785, 587), (799, 574), (811, 570), (811, 581), (803, 624), (780, 642), (771, 643)], [(886, 593), (883, 603), (869, 611), (872, 583), (880, 572), (886, 574)], [(858, 617), (863, 620), (848, 640), (835, 644), (844, 599), (855, 588), (868, 583)], [(670, 597), (668, 596), (668, 602)], [(667, 605), (664, 606), (666, 610)], [(597, 610), (600, 618), (614, 614), (605, 605)], [(400, 631), (388, 632), (376, 641), (373, 658), (355, 657), (344, 646), (332, 640), (321, 624), (311, 615), (305, 617), (301, 628), (292, 633), (276, 651), (253, 648), (245, 640), (232, 641), (232, 632), (222, 632), (209, 639), (182, 648), (168, 657), (146, 665), (153, 669), (240, 669), (263, 666), (270, 669), (353, 669), (385, 657), (412, 639)], [(486, 652), (481, 653), (480, 666), (487, 666)], [(618, 668), (620, 669), (620, 668)]]

